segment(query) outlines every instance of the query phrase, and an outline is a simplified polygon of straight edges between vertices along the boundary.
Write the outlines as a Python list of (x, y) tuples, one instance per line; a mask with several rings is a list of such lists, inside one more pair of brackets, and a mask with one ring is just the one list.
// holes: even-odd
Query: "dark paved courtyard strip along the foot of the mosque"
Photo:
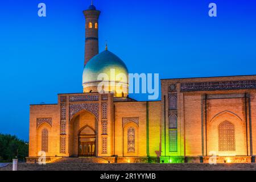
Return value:
[[(12, 164), (0, 167), (11, 171)], [(19, 171), (256, 171), (256, 164), (18, 164)]]

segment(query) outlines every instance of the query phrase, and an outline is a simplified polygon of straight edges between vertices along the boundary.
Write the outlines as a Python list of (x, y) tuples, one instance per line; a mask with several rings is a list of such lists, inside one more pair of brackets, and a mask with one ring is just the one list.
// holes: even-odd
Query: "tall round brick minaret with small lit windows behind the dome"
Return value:
[(98, 18), (101, 11), (96, 10), (92, 1), (88, 10), (83, 13), (85, 16), (85, 65), (98, 54)]

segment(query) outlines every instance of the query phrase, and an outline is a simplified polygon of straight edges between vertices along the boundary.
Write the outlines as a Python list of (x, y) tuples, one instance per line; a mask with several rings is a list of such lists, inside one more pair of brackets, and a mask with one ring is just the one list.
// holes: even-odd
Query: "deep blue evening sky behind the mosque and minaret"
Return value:
[[(47, 17), (39, 18), (38, 4)], [(208, 5), (217, 4), (217, 18)], [(28, 140), (29, 105), (55, 104), (58, 93), (82, 92), (90, 0), (0, 3), (0, 133)], [(160, 78), (256, 74), (255, 0), (94, 0), (102, 11), (100, 50), (131, 73)], [(133, 95), (146, 100), (146, 95)]]

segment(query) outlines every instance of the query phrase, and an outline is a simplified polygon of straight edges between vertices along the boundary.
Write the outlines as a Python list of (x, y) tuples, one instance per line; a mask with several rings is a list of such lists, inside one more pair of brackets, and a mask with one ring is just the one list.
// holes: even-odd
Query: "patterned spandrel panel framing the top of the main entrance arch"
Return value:
[(71, 104), (69, 105), (69, 119), (81, 110), (88, 110), (98, 119), (98, 104)]

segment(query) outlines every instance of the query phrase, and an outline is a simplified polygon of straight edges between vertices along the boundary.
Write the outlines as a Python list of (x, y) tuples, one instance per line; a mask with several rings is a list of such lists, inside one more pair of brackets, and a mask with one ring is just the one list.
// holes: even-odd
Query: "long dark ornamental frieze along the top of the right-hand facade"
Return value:
[(180, 91), (256, 89), (256, 80), (181, 83)]

